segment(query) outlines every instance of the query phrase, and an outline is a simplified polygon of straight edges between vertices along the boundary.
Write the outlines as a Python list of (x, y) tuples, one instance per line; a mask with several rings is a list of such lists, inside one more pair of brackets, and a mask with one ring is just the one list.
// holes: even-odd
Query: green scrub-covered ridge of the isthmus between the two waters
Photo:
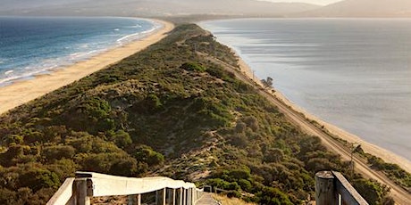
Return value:
[[(222, 65), (231, 50), (182, 25), (141, 53), (0, 117), (0, 204), (44, 204), (76, 170), (162, 175), (246, 201), (303, 204), (316, 171), (348, 162)], [(351, 176), (351, 175), (349, 175)], [(350, 177), (371, 204), (388, 190)]]

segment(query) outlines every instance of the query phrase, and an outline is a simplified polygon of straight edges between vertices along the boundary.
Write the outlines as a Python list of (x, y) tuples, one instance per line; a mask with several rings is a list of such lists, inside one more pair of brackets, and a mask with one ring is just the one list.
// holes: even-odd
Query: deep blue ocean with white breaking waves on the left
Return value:
[(0, 86), (86, 60), (158, 27), (134, 18), (0, 17)]

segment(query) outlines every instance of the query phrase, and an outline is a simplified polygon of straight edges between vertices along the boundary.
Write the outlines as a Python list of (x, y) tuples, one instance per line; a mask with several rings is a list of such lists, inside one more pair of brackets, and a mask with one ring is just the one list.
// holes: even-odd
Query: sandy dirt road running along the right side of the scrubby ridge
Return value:
[[(223, 61), (220, 61), (214, 58), (213, 56), (208, 56), (206, 54), (203, 55), (207, 60), (214, 61), (215, 63), (222, 65), (223, 68), (233, 72), (236, 75), (236, 77), (241, 79), (242, 81), (247, 82), (252, 86), (255, 86), (256, 90), (258, 90), (258, 92), (262, 94), (267, 100), (273, 102), (273, 104), (278, 107), (279, 111), (281, 111), (285, 115), (285, 117), (290, 120), (290, 122), (300, 127), (304, 132), (306, 132), (306, 134), (316, 135), (320, 137), (323, 144), (327, 147), (327, 149), (331, 152), (340, 154), (342, 160), (350, 160), (351, 152), (345, 145), (333, 139), (331, 135), (327, 134), (321, 128), (316, 127), (314, 124), (309, 122), (301, 113), (298, 113), (297, 111), (290, 109), (286, 103), (282, 102), (280, 99), (275, 97), (274, 94), (262, 89), (262, 87), (258, 83), (256, 83), (253, 79), (249, 78), (246, 74), (241, 73), (241, 71), (239, 71), (238, 68), (235, 68)], [(394, 198), (397, 204), (407, 205), (411, 202), (411, 194), (407, 193), (407, 191), (404, 190), (402, 187), (392, 182), (382, 172), (373, 170), (367, 165), (364, 159), (356, 155), (354, 155), (353, 160), (355, 162), (355, 168), (358, 173), (362, 174), (365, 177), (375, 179), (382, 184), (388, 185), (390, 187), (391, 196)]]

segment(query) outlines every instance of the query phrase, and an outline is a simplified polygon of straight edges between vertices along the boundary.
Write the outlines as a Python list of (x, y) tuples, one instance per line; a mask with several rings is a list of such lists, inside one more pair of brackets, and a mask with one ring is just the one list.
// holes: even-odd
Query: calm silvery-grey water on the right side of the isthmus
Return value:
[(199, 24), (315, 116), (411, 160), (410, 19)]

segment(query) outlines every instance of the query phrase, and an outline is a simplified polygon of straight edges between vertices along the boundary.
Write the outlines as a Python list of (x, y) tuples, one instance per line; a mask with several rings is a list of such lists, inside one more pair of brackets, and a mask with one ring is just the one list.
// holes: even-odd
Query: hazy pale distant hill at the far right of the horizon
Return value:
[(411, 17), (409, 0), (344, 0), (313, 11), (298, 13), (299, 17)]

